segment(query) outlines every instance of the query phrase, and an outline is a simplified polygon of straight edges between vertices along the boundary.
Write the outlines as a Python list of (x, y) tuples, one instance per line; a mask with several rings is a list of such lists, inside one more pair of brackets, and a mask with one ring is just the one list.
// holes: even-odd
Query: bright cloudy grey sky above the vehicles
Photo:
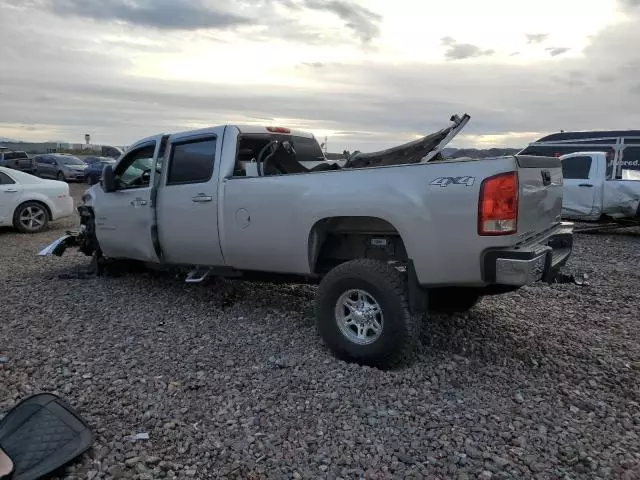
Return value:
[(640, 0), (0, 0), (0, 136), (220, 123), (372, 150), (640, 128)]

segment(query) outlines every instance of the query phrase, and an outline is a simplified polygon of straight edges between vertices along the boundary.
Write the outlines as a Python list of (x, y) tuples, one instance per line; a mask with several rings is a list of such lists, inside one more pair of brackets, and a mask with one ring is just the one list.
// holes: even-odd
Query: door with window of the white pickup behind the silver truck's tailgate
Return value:
[(590, 155), (562, 159), (563, 216), (585, 220), (600, 217), (603, 185), (596, 180), (600, 178), (598, 168), (598, 162)]

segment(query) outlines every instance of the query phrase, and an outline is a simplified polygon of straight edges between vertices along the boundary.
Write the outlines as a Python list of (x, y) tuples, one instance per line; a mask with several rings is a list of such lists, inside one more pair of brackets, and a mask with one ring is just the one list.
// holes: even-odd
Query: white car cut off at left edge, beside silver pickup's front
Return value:
[(0, 227), (37, 233), (50, 221), (71, 215), (73, 197), (66, 182), (0, 167)]

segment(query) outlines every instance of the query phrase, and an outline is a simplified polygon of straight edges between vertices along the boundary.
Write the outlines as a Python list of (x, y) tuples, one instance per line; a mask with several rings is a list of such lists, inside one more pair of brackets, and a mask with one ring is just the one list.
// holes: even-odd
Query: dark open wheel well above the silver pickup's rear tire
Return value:
[(378, 217), (331, 217), (316, 222), (309, 233), (309, 265), (324, 274), (356, 258), (407, 260), (398, 230)]

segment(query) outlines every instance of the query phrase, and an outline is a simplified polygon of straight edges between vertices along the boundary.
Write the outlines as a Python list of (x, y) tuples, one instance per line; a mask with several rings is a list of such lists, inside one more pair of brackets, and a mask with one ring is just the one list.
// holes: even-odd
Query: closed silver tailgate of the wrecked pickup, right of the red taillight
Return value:
[(528, 238), (560, 222), (562, 162), (555, 157), (516, 155), (518, 236)]

